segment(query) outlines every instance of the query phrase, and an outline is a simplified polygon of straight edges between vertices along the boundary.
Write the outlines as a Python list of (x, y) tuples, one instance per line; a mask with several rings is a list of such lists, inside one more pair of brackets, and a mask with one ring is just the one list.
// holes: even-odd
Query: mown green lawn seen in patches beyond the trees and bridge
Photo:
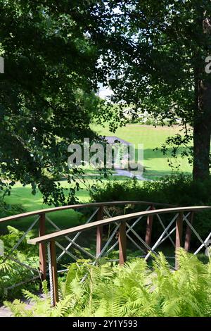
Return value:
[[(146, 172), (143, 173), (143, 176), (150, 179), (157, 179), (160, 176), (167, 175), (172, 173), (171, 168), (167, 162), (167, 156), (163, 156), (161, 151), (153, 151), (155, 147), (160, 147), (165, 139), (174, 135), (179, 131), (177, 127), (153, 127), (151, 125), (138, 125), (132, 124), (127, 125), (126, 127), (120, 127), (117, 129), (115, 134), (108, 130), (108, 125), (102, 127), (100, 125), (93, 125), (92, 127), (99, 135), (106, 136), (117, 136), (120, 137), (127, 142), (132, 144), (136, 144), (136, 148), (138, 144), (143, 144), (144, 149), (144, 168)], [(180, 170), (186, 173), (191, 173), (191, 167), (188, 165), (187, 160), (178, 158), (178, 160), (174, 161), (174, 165), (177, 165), (178, 162), (181, 163)], [(90, 173), (90, 171), (89, 171)], [(127, 177), (113, 177), (112, 180), (126, 180)], [(87, 180), (94, 180), (93, 176), (87, 176)], [(66, 181), (62, 181), (61, 185), (67, 186)], [(37, 194), (34, 196), (31, 193), (31, 187), (27, 185), (23, 187), (19, 183), (13, 187), (11, 196), (6, 197), (6, 202), (8, 204), (22, 204), (26, 211), (35, 211), (41, 208), (47, 208), (49, 206), (45, 206), (42, 202), (41, 193), (37, 190)], [(89, 201), (89, 193), (86, 189), (82, 189), (77, 193), (79, 201), (88, 202)], [(53, 213), (49, 215), (52, 220), (55, 220), (60, 227), (65, 228), (69, 224), (78, 225), (83, 222), (82, 217), (79, 213), (75, 213), (75, 211), (63, 211), (59, 213)], [(25, 218), (19, 221), (13, 221), (10, 223), (20, 229), (25, 229), (27, 224), (29, 224), (32, 218)], [(7, 224), (8, 225), (8, 224)], [(0, 225), (0, 230), (5, 229), (6, 224)], [(49, 230), (52, 230), (49, 227)]]

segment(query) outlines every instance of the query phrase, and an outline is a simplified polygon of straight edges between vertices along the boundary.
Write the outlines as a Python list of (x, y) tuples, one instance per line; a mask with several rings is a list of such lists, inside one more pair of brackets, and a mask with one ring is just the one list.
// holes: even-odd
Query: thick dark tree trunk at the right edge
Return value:
[[(205, 17), (203, 6), (199, 11), (204, 55), (210, 55), (211, 20)], [(193, 180), (205, 180), (210, 175), (211, 74), (205, 73), (201, 52), (196, 58), (199, 68), (194, 69), (196, 97), (193, 115)]]

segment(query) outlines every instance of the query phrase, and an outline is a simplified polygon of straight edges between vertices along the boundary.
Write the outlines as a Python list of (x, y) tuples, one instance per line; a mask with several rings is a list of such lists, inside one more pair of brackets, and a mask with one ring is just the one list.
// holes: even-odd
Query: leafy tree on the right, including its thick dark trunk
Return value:
[(210, 1), (110, 1), (98, 8), (101, 24), (90, 32), (98, 36), (114, 101), (133, 105), (134, 116), (146, 110), (170, 123), (181, 118), (184, 135), (167, 142), (174, 155), (186, 146), (195, 179), (210, 173), (210, 11)]

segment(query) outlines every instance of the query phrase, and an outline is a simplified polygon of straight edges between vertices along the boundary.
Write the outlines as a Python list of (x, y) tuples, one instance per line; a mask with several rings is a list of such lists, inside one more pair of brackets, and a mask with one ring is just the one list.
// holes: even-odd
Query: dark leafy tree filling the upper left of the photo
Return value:
[(0, 1), (1, 177), (38, 185), (49, 204), (64, 203), (50, 177), (68, 172), (68, 145), (92, 135), (98, 111), (98, 52), (84, 30), (91, 2)]

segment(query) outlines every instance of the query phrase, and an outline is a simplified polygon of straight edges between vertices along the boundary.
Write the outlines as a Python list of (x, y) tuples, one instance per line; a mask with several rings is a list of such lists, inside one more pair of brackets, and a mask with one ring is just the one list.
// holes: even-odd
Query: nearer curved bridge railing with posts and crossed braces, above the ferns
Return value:
[[(57, 275), (57, 258), (56, 258), (56, 246), (60, 247), (65, 251), (65, 253), (70, 254), (68, 249), (69, 247), (62, 247), (58, 240), (62, 238), (69, 238), (71, 235), (77, 236), (78, 234), (81, 234), (83, 232), (90, 232), (91, 230), (96, 230), (96, 247), (97, 247), (97, 254), (94, 258), (93, 264), (96, 264), (99, 258), (102, 258), (103, 256), (107, 256), (108, 252), (115, 248), (115, 245), (118, 244), (119, 246), (119, 263), (123, 264), (125, 261), (127, 261), (127, 239), (129, 239), (136, 248), (139, 248), (141, 252), (145, 253), (144, 258), (147, 260), (151, 254), (157, 254), (155, 249), (160, 246), (162, 242), (165, 241), (165, 239), (170, 239), (172, 242), (174, 248), (179, 248), (183, 246), (183, 230), (184, 225), (186, 225), (186, 235), (184, 240), (184, 248), (188, 251), (190, 247), (190, 241), (191, 241), (191, 232), (196, 235), (198, 240), (200, 241), (199, 248), (195, 251), (194, 254), (197, 254), (200, 249), (202, 249), (204, 246), (207, 247), (207, 240), (211, 236), (208, 235), (208, 237), (203, 240), (196, 229), (193, 227), (193, 214), (199, 211), (207, 211), (210, 210), (210, 206), (191, 206), (191, 207), (174, 207), (174, 208), (162, 208), (155, 210), (153, 205), (148, 208), (146, 211), (139, 211), (136, 213), (129, 213), (126, 215), (121, 216), (115, 216), (103, 219), (101, 217), (100, 220), (96, 220), (92, 223), (87, 223), (84, 225), (79, 225), (76, 227), (71, 227), (66, 230), (61, 230), (58, 232), (53, 232), (50, 235), (42, 235), (41, 237), (37, 237), (34, 239), (30, 239), (28, 241), (29, 244), (39, 244), (44, 245), (47, 244), (48, 249), (48, 257), (49, 257), (49, 280), (50, 280), (50, 289), (51, 289), (51, 303), (52, 305), (55, 305), (58, 301), (58, 275)], [(99, 208), (99, 207), (98, 207)], [(102, 210), (101, 210), (102, 213)], [(168, 222), (167, 227), (162, 222), (161, 215), (170, 215), (170, 220)], [(173, 214), (173, 217), (172, 217)], [(102, 214), (98, 214), (102, 215)], [(152, 231), (152, 223), (153, 223), (153, 216), (157, 216), (158, 220), (160, 220), (160, 225), (163, 227), (162, 234), (158, 236), (158, 239), (155, 241), (155, 244), (151, 247), (151, 231)], [(139, 233), (137, 233), (134, 230), (134, 227), (139, 223), (139, 221), (143, 218), (146, 218), (146, 237), (145, 239), (141, 238)], [(103, 227), (108, 225), (114, 225), (113, 231), (110, 233), (110, 236), (108, 237), (106, 244), (104, 246), (101, 246), (102, 244), (102, 233), (103, 233)], [(131, 237), (131, 233), (134, 237)], [(176, 232), (175, 240), (172, 240), (172, 233)], [(108, 249), (108, 245), (111, 243), (112, 239), (115, 237), (115, 234), (117, 233), (117, 242), (113, 244)], [(70, 239), (72, 240), (72, 239)], [(72, 254), (70, 254), (72, 256)], [(177, 269), (178, 262), (177, 262), (177, 256), (175, 257), (175, 268)]]

